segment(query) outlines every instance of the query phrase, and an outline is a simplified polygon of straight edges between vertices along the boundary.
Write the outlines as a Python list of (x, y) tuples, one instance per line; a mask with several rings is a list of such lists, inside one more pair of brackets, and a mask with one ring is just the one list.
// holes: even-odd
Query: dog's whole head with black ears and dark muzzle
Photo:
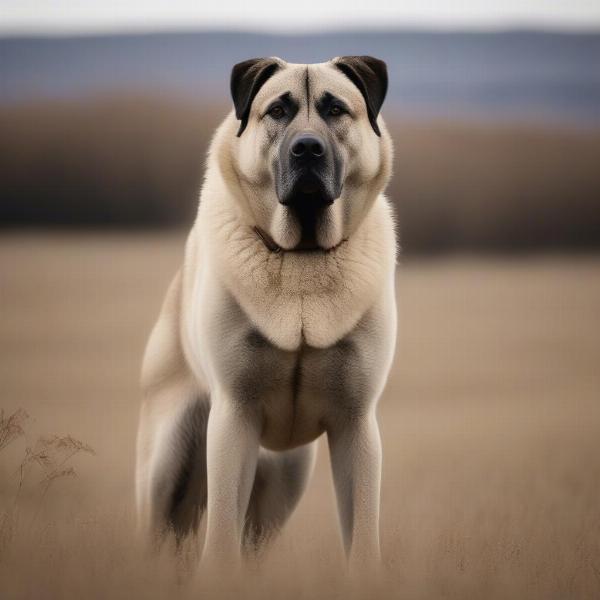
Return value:
[(255, 224), (287, 250), (327, 250), (348, 237), (390, 174), (377, 119), (385, 63), (341, 57), (300, 65), (236, 65), (231, 160)]

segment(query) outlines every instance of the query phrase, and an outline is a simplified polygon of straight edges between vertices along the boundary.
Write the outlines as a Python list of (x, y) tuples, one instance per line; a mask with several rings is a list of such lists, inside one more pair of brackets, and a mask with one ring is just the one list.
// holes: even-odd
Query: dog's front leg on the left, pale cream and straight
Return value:
[(203, 561), (227, 568), (241, 556), (244, 519), (256, 472), (256, 415), (225, 395), (211, 406), (207, 431), (207, 523)]

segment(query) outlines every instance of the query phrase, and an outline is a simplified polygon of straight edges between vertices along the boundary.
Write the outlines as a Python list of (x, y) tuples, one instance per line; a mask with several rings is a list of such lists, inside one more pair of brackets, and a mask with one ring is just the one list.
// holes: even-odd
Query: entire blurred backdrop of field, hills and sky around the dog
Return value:
[[(137, 378), (229, 73), (344, 54), (388, 64), (402, 247), (372, 595), (600, 597), (598, 0), (0, 0), (7, 597), (173, 594), (131, 542)], [(347, 597), (334, 514), (322, 444), (245, 595)]]

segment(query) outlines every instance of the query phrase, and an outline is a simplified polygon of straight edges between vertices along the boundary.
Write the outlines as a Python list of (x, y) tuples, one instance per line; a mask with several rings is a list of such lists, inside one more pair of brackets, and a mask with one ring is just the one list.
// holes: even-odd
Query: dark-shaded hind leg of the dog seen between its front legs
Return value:
[(244, 527), (244, 550), (256, 551), (298, 504), (312, 473), (316, 442), (284, 452), (261, 448)]

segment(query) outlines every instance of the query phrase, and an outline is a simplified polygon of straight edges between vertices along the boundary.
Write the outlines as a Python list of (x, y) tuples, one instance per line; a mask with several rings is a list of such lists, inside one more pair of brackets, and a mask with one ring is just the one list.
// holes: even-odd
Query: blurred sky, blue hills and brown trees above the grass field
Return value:
[(373, 54), (406, 253), (600, 242), (597, 2), (2, 4), (5, 228), (185, 226), (234, 63)]

